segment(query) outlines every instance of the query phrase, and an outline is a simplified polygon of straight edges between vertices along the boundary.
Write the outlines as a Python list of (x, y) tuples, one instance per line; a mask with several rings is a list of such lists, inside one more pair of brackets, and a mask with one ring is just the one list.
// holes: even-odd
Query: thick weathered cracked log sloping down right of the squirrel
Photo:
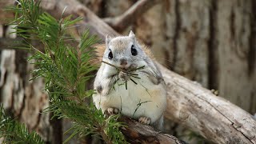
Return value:
[(163, 66), (160, 69), (168, 88), (166, 118), (212, 142), (256, 142), (256, 120), (251, 114)]

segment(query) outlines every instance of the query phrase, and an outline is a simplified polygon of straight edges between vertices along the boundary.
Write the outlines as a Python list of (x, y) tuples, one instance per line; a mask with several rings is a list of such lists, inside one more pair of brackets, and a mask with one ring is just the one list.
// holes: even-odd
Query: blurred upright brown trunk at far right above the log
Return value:
[[(251, 14), (253, 1), (218, 1), (216, 53), (220, 95), (243, 109), (256, 112), (255, 65), (250, 66)], [(255, 9), (255, 7), (254, 7)], [(254, 43), (255, 44), (255, 43)], [(254, 55), (255, 57), (255, 55)]]

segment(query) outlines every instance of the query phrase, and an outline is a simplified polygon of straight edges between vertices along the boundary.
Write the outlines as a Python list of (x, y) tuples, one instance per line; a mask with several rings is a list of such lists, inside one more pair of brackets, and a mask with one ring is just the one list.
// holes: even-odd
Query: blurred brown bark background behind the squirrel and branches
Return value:
[[(42, 5), (53, 12), (56, 2), (62, 1), (42, 1)], [(162, 65), (214, 90), (250, 114), (256, 113), (256, 1), (151, 1), (154, 5), (145, 13), (125, 20), (127, 27), (115, 22), (137, 0), (79, 2), (120, 34), (134, 30)], [(6, 19), (14, 14), (2, 9), (14, 3), (0, 0), (0, 102), (30, 130), (37, 130), (47, 142), (58, 143), (70, 123), (65, 119), (49, 121), (50, 114), (42, 114), (49, 101), (42, 91), (44, 81), (29, 81), (33, 70), (26, 61), (29, 52), (10, 48), (19, 38), (9, 34), (12, 29), (6, 26)], [(171, 124), (168, 129), (177, 126)]]

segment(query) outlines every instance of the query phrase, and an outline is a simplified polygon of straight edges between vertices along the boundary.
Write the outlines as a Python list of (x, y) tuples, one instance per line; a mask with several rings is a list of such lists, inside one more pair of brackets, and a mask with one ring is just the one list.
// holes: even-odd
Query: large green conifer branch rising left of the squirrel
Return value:
[(100, 134), (107, 143), (125, 143), (122, 132), (118, 130), (123, 126), (121, 122), (116, 122), (118, 116), (104, 118), (101, 110), (97, 110), (92, 103), (87, 106), (84, 102), (86, 97), (94, 94), (94, 90), (86, 90), (86, 82), (93, 77), (90, 73), (97, 70), (96, 66), (90, 65), (90, 58), (94, 52), (92, 45), (98, 42), (98, 38), (90, 36), (89, 30), (86, 30), (78, 46), (70, 46), (66, 41), (75, 40), (66, 31), (82, 18), (67, 16), (57, 20), (42, 12), (39, 4), (34, 0), (20, 0), (18, 6), (9, 10), (16, 13), (11, 24), (17, 25), (16, 33), (25, 38), (27, 45), (24, 47), (36, 49), (30, 40), (39, 40), (44, 45), (45, 53), (34, 50), (28, 60), (35, 60), (37, 69), (32, 71), (34, 78), (45, 78), (46, 92), (50, 96), (50, 106), (45, 111), (53, 112), (53, 118), (69, 118), (74, 122), (70, 129), (74, 132), (65, 142), (74, 135)]

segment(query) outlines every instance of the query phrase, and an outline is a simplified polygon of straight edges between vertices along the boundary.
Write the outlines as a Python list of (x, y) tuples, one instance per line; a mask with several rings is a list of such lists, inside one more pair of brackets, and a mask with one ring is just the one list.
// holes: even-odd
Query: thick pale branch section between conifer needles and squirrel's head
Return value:
[(64, 17), (72, 14), (74, 18), (84, 18), (82, 22), (78, 23), (79, 26), (75, 26), (70, 30), (75, 38), (80, 38), (80, 34), (89, 28), (92, 34), (97, 34), (99, 38), (105, 40), (106, 34), (112, 36), (118, 36), (118, 33), (114, 31), (110, 26), (98, 18), (92, 11), (86, 6), (83, 6), (77, 0), (42, 0), (42, 8), (48, 13), (52, 14), (55, 18), (61, 18), (62, 11), (66, 8)]

